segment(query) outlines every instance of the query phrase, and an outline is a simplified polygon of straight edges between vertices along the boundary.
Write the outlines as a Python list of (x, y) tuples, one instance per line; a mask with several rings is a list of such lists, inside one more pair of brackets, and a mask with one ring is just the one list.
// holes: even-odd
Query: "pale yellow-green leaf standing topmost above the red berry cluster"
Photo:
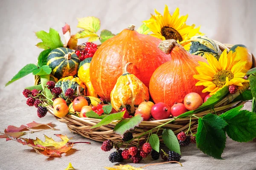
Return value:
[(77, 18), (78, 20), (78, 28), (82, 28), (91, 32), (97, 32), (100, 28), (100, 20), (96, 17), (84, 17)]

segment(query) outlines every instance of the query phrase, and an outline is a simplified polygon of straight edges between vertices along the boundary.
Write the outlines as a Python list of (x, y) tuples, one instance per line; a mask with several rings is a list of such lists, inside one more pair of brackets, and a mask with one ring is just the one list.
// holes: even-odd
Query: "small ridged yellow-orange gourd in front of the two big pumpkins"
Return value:
[(141, 102), (149, 99), (148, 88), (134, 74), (127, 71), (128, 62), (123, 74), (117, 79), (116, 85), (111, 91), (111, 105), (116, 111), (122, 108), (133, 114)]

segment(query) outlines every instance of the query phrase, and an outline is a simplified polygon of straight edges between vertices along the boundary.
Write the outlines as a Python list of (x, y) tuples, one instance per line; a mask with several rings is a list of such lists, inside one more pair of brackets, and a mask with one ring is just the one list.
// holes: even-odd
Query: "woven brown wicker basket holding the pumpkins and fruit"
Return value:
[[(215, 42), (219, 45), (221, 51), (224, 51), (224, 49), (227, 49), (227, 51), (229, 51), (229, 49), (233, 46), (230, 44), (224, 45), (217, 41), (215, 41)], [(256, 59), (253, 56), (253, 68), (254, 67), (256, 67)], [(36, 76), (35, 77), (35, 85), (38, 85), (39, 83), (40, 83), (40, 77)], [(244, 90), (245, 90), (245, 89), (249, 88), (249, 85), (247, 84), (242, 88), (244, 88)], [(219, 103), (217, 103), (215, 105), (215, 109), (214, 109), (215, 112), (220, 114), (227, 110), (230, 110), (231, 108), (234, 108), (239, 105), (243, 105), (245, 103), (245, 102), (232, 102), (233, 97), (234, 96), (228, 95), (223, 100), (221, 100)], [(53, 115), (52, 107), (49, 105), (47, 107), (48, 107), (49, 113), (51, 113)], [(213, 110), (203, 111), (200, 113), (196, 113), (195, 116), (202, 117), (208, 113), (214, 113), (214, 111)], [(111, 139), (114, 142), (122, 142), (121, 137), (113, 132), (113, 128), (119, 122), (119, 120), (113, 121), (109, 125), (104, 125), (104, 126), (97, 127), (94, 129), (89, 129), (93, 125), (96, 125), (97, 123), (99, 123), (101, 121), (101, 119), (80, 118), (80, 117), (74, 116), (74, 115), (67, 115), (65, 118), (62, 118), (62, 119), (60, 119), (56, 116), (55, 116), (55, 118), (62, 123), (66, 123), (68, 129), (71, 132), (78, 133), (81, 136), (84, 136), (86, 138), (89, 138), (89, 139), (92, 139), (95, 141), (101, 141), (101, 142), (105, 141), (106, 139)], [(170, 120), (172, 120), (172, 118), (171, 119), (163, 119), (163, 120), (151, 119), (150, 121), (143, 121), (140, 123), (140, 125), (138, 127), (136, 127), (134, 130), (130, 130), (130, 131), (133, 133), (134, 137), (137, 137), (137, 136), (142, 135), (145, 131), (148, 131), (148, 130), (150, 130), (154, 127), (157, 127), (159, 125), (163, 125), (164, 123), (169, 122)], [(189, 123), (190, 123), (190, 117), (185, 117), (185, 118), (181, 118), (181, 119), (176, 119), (174, 122), (164, 125), (162, 128), (172, 129), (173, 132), (176, 134), (181, 131), (188, 130)], [(192, 117), (190, 130), (193, 133), (196, 133), (197, 127), (198, 127), (198, 119), (195, 117)], [(153, 132), (156, 133), (157, 129), (152, 130), (152, 133)], [(163, 139), (161, 136), (162, 130), (159, 130), (157, 133), (159, 135), (160, 142), (163, 142)], [(147, 137), (147, 136), (148, 136), (148, 134), (145, 135), (145, 137)], [(138, 139), (135, 139), (130, 144), (136, 145), (137, 140)]]

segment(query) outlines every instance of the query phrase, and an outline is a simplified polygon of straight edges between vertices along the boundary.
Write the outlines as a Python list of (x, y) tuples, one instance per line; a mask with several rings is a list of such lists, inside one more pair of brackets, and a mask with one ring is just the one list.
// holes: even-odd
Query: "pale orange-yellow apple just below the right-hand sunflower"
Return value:
[(184, 105), (187, 110), (192, 111), (203, 104), (203, 99), (198, 93), (189, 93), (184, 98)]

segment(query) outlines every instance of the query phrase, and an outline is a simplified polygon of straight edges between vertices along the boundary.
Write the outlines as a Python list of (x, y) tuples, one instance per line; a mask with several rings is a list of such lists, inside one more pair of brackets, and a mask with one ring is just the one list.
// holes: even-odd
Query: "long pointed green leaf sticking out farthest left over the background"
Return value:
[(35, 64), (27, 64), (21, 70), (14, 76), (12, 79), (6, 83), (5, 86), (11, 84), (12, 82), (15, 82), (16, 80), (25, 77), (26, 75), (32, 73), (34, 70), (38, 69), (38, 67)]

